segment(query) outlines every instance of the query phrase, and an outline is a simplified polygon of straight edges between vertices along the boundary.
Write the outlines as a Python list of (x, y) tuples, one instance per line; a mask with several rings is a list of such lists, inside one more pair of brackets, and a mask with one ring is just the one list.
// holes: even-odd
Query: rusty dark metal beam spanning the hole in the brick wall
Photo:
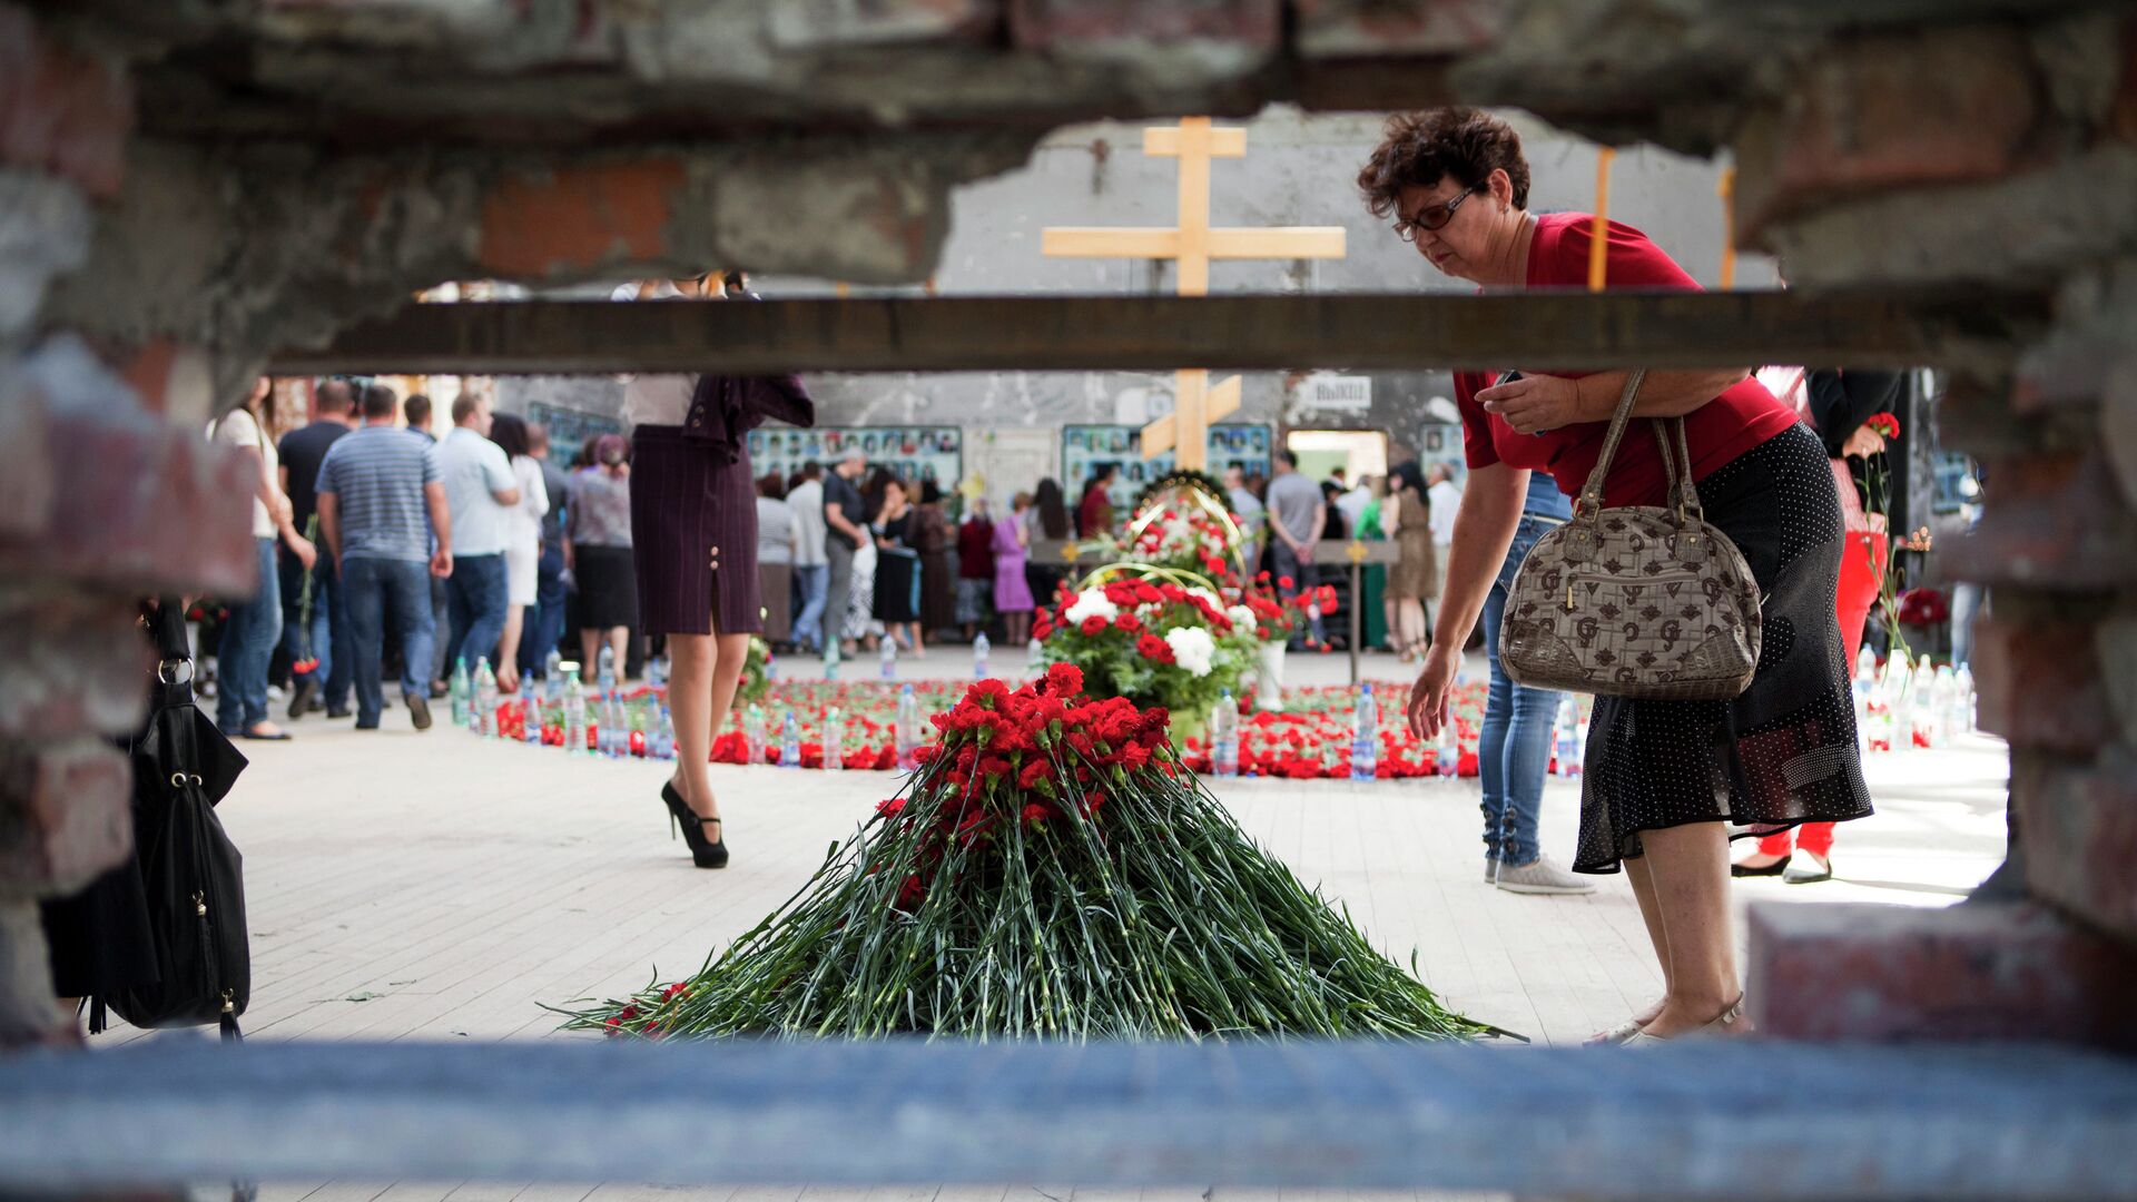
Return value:
[(421, 304), (269, 370), (1970, 368), (2045, 317), (1987, 289)]

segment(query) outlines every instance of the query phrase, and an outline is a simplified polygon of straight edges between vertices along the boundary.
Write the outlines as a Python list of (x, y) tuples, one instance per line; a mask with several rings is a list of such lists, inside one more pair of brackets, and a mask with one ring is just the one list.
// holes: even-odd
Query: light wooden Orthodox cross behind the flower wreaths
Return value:
[[(1177, 126), (1145, 128), (1143, 154), (1180, 160), (1180, 225), (1171, 229), (1056, 227), (1041, 231), (1039, 250), (1056, 259), (1173, 259), (1177, 293), (1210, 295), (1212, 259), (1342, 259), (1340, 225), (1259, 229), (1210, 227), (1210, 160), (1244, 158), (1246, 130), (1212, 128), (1210, 118), (1180, 118)], [(1173, 413), (1143, 426), (1143, 458), (1173, 451), (1182, 468), (1210, 466), (1210, 423), (1239, 409), (1239, 376), (1210, 387), (1205, 368), (1182, 368), (1173, 385)]]

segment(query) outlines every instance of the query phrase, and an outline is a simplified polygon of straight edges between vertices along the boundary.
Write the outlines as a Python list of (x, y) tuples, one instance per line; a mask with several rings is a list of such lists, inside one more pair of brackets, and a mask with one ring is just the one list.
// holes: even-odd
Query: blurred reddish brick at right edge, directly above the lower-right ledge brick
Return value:
[(2137, 954), (2137, 755), (2015, 761), (2011, 804), (2028, 892)]

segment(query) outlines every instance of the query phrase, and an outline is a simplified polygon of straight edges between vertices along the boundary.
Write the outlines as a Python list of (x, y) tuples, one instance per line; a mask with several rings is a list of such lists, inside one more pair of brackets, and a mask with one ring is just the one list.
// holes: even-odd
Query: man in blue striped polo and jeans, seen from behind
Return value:
[[(430, 729), (430, 665), (436, 622), (430, 577), (453, 575), (453, 522), (438, 451), (393, 426), (393, 389), (363, 389), (363, 426), (338, 438), (318, 464), (318, 526), (348, 590), (355, 644), (357, 729), (378, 729), (385, 618), (402, 646), (402, 699), (415, 729)], [(436, 550), (432, 550), (436, 535)]]

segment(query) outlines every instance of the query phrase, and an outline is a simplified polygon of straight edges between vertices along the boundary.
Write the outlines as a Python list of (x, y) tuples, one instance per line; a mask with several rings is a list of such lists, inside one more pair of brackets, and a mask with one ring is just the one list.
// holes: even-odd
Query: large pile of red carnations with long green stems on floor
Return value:
[(1481, 1035), (1254, 847), (1167, 714), (1073, 665), (972, 684), (908, 787), (697, 975), (568, 1010), (611, 1035)]

